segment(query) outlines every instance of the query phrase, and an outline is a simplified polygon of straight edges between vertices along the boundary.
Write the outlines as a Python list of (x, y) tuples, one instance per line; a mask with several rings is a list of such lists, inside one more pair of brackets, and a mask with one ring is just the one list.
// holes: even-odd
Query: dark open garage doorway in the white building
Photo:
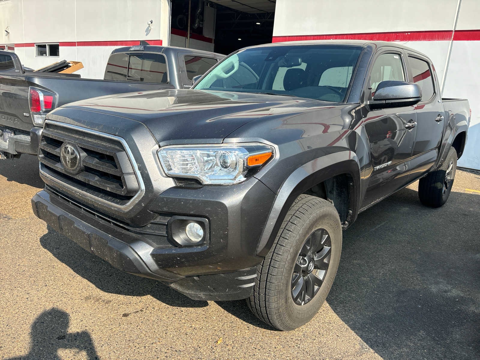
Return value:
[(276, 0), (172, 0), (170, 45), (229, 54), (272, 42)]

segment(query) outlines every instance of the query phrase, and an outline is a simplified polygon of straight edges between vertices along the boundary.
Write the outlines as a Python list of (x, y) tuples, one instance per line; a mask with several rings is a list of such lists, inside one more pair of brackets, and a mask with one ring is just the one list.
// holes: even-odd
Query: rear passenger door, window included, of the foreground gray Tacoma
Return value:
[(430, 61), (417, 54), (408, 54), (409, 81), (421, 88), (417, 111), (417, 133), (413, 146), (411, 180), (419, 178), (435, 164), (440, 150), (445, 119), (442, 96)]

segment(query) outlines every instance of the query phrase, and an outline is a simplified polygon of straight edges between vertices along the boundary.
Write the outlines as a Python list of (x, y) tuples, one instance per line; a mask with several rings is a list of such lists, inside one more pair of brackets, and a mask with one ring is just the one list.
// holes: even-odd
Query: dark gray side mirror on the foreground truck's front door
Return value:
[(382, 81), (377, 86), (373, 100), (367, 101), (372, 109), (412, 106), (421, 100), (420, 86), (406, 81)]

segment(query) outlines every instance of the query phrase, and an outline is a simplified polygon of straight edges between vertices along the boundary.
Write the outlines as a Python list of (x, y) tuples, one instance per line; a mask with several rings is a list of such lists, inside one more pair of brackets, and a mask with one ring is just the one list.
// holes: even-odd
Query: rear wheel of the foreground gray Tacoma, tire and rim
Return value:
[(440, 207), (448, 200), (456, 173), (456, 150), (451, 147), (444, 163), (419, 181), (420, 202), (426, 206)]

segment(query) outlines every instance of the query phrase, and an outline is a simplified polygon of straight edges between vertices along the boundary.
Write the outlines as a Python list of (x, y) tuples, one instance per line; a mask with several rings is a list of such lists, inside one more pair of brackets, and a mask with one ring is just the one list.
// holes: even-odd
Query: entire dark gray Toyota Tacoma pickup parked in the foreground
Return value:
[(190, 90), (49, 113), (33, 211), (121, 270), (246, 298), (291, 330), (324, 302), (359, 212), (419, 179), (421, 203), (447, 201), (469, 120), (396, 43), (245, 48)]

